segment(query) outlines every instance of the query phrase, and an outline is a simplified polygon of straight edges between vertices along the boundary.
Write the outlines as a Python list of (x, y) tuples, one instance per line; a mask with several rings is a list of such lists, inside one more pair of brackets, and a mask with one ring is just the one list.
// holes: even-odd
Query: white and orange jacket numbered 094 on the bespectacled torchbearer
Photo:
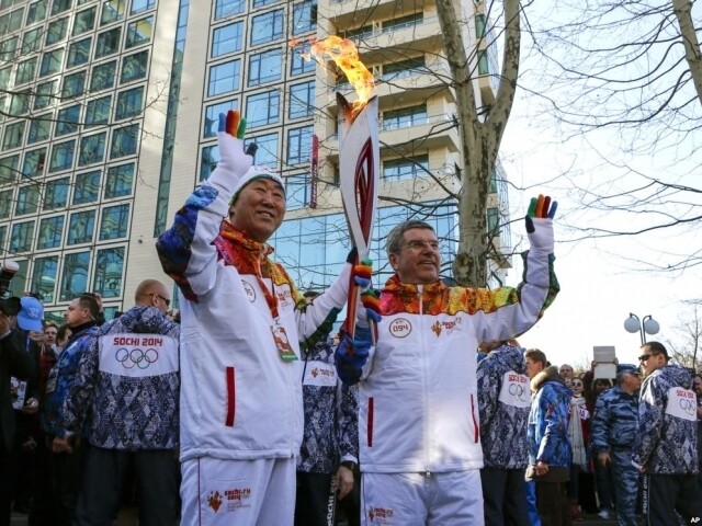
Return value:
[(381, 291), (382, 321), (359, 388), (361, 470), (483, 467), (476, 350), (531, 328), (558, 291), (553, 254), (524, 254), (524, 281), (496, 290), (400, 283)]

